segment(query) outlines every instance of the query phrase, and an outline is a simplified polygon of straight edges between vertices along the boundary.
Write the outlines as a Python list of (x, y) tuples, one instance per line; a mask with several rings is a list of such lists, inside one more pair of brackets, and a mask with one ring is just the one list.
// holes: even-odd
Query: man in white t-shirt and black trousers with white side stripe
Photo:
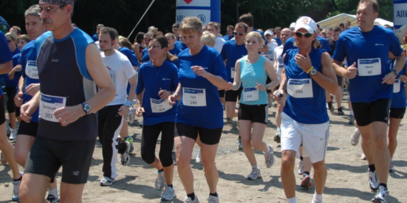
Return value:
[[(116, 88), (114, 99), (98, 112), (98, 137), (102, 144), (103, 179), (101, 186), (112, 185), (117, 177), (117, 152), (121, 155), (121, 164), (130, 161), (130, 143), (118, 145), (117, 138), (123, 126), (124, 116), (136, 98), (136, 71), (127, 56), (114, 49), (118, 33), (114, 28), (102, 28), (99, 34), (101, 56), (109, 71)], [(127, 97), (127, 82), (130, 83), (129, 97)], [(117, 150), (116, 150), (117, 149)]]

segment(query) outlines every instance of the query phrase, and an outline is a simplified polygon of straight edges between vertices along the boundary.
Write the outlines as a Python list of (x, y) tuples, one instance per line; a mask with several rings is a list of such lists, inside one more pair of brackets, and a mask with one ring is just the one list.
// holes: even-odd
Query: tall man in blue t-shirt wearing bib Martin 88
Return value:
[[(385, 203), (389, 194), (387, 122), (392, 84), (405, 64), (405, 54), (392, 30), (374, 25), (378, 12), (376, 1), (359, 3), (358, 26), (339, 35), (333, 67), (339, 76), (350, 79), (350, 101), (362, 135), (362, 149), (369, 163), (369, 186), (372, 191), (377, 191), (372, 202)], [(387, 63), (389, 52), (396, 56), (393, 69)], [(345, 57), (347, 69), (341, 66)]]

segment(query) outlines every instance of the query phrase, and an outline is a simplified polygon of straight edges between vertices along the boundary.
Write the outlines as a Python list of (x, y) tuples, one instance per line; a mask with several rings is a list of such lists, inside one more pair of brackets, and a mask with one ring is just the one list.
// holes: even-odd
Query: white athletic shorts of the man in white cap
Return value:
[(281, 114), (281, 151), (292, 150), (300, 156), (309, 157), (312, 163), (325, 159), (329, 140), (329, 121), (321, 124), (304, 124), (294, 121), (287, 114)]

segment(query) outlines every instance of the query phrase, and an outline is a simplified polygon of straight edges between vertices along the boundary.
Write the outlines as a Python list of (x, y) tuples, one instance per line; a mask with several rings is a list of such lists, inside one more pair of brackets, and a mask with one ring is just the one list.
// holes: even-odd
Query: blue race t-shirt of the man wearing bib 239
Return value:
[[(28, 42), (24, 48), (21, 50), (21, 74), (25, 80), (24, 89), (33, 83), (39, 83), (38, 80), (38, 69), (37, 69), (37, 50), (35, 48), (34, 40)], [(33, 97), (24, 93), (23, 99), (24, 103), (30, 101)], [(31, 122), (38, 123), (39, 108), (31, 114)]]

